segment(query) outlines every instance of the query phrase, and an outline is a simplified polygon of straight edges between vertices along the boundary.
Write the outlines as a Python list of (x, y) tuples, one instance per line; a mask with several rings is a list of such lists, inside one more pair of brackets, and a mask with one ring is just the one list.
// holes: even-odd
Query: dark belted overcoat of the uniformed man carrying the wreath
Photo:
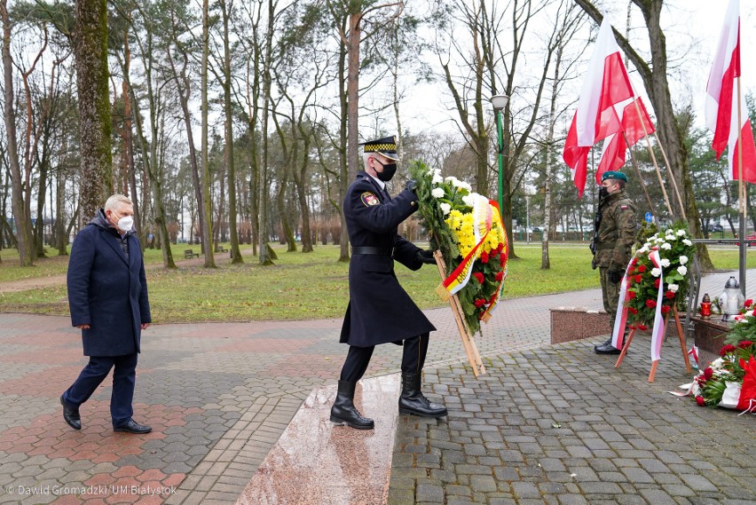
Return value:
[(343, 209), (352, 248), (374, 247), (389, 254), (351, 256), (350, 303), (341, 342), (357, 347), (400, 343), (435, 330), (394, 273), (394, 260), (411, 270), (422, 266), (417, 257), (421, 249), (397, 232), (398, 225), (417, 210), (417, 195), (405, 190), (391, 199), (374, 178), (359, 172)]

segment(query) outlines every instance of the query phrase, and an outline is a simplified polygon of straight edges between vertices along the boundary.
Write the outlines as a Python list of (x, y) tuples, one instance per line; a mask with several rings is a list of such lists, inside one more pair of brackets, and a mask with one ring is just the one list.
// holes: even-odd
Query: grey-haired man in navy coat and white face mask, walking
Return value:
[(60, 397), (63, 418), (82, 429), (79, 406), (111, 368), (110, 415), (114, 431), (149, 433), (135, 422), (131, 402), (136, 384), (141, 330), (152, 322), (142, 249), (133, 230), (134, 207), (122, 194), (107, 199), (89, 225), (76, 235), (68, 260), (68, 305), (73, 326), (82, 330), (90, 362)]

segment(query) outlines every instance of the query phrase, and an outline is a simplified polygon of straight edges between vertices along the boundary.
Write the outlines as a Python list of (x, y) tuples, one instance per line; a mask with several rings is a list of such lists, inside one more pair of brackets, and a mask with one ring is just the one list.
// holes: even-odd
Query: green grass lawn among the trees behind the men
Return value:
[[(173, 246), (176, 259), (183, 259), (184, 249), (190, 247)], [(273, 266), (260, 266), (256, 256), (244, 256), (244, 264), (226, 262), (210, 270), (201, 266), (174, 271), (148, 269), (153, 320), (306, 320), (343, 316), (349, 300), (348, 265), (336, 261), (339, 256), (336, 246), (317, 246), (310, 254), (287, 253), (285, 247), (278, 245), (273, 248), (279, 256)], [(197, 246), (193, 249), (199, 251)], [(598, 272), (590, 268), (591, 254), (587, 246), (555, 243), (549, 251), (551, 269), (542, 271), (539, 244), (516, 243), (520, 257), (508, 264), (505, 298), (598, 287)], [(4, 250), (0, 281), (23, 278), (16, 272), (19, 270), (31, 272), (27, 277), (66, 271), (65, 257), (43, 258), (37, 262), (38, 266), (20, 269), (18, 264), (11, 264), (11, 256), (6, 253)], [(737, 268), (737, 250), (710, 249), (710, 253), (717, 268)], [(160, 250), (147, 249), (147, 264), (161, 264), (161, 261)], [(748, 266), (756, 268), (756, 255), (749, 253)], [(440, 282), (435, 266), (426, 265), (419, 272), (411, 272), (398, 264), (397, 276), (421, 308), (445, 306), (435, 293)], [(0, 295), (0, 312), (67, 315), (66, 296), (65, 286), (6, 293)]]

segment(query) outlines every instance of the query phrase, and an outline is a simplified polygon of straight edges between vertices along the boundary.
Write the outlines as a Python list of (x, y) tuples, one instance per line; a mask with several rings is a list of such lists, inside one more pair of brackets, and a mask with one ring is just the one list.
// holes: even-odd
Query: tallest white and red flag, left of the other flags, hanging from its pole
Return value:
[(633, 97), (633, 86), (622, 63), (619, 46), (604, 16), (562, 154), (580, 197), (586, 188), (591, 147), (622, 129), (614, 106)]

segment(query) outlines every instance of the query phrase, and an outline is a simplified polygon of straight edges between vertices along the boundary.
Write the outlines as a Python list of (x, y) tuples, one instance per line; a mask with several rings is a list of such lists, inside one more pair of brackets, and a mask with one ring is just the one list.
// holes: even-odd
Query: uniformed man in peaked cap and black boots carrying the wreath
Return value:
[(364, 145), (365, 171), (357, 175), (343, 202), (352, 256), (349, 268), (350, 303), (341, 342), (350, 348), (331, 408), (331, 421), (359, 430), (374, 428), (354, 406), (354, 391), (365, 374), (375, 345), (404, 345), (399, 413), (427, 417), (446, 415), (445, 406), (430, 403), (421, 392), (422, 366), (431, 330), (436, 328), (399, 285), (394, 260), (411, 270), (435, 264), (433, 254), (401, 237), (398, 225), (417, 210), (414, 181), (391, 198), (386, 190), (397, 170), (396, 138), (379, 138)]

